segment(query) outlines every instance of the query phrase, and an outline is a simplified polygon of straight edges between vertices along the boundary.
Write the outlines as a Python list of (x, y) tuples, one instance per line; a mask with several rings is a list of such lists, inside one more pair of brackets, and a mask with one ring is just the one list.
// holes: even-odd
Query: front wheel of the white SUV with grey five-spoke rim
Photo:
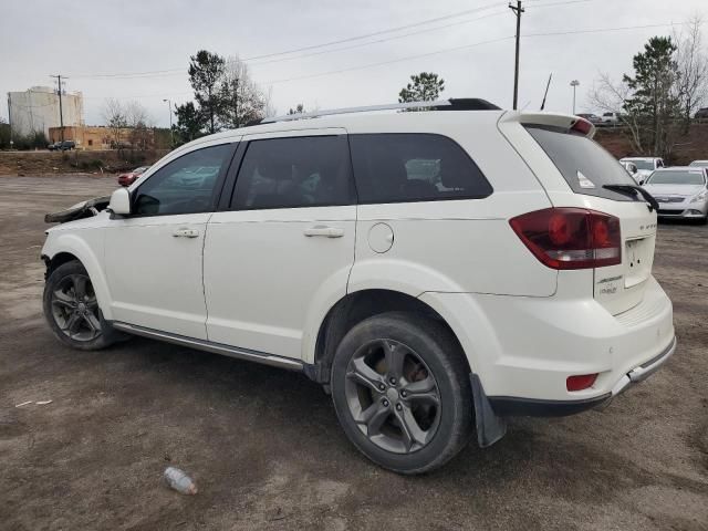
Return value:
[(98, 351), (124, 339), (104, 319), (86, 269), (77, 260), (46, 279), (44, 319), (59, 341), (81, 351)]

